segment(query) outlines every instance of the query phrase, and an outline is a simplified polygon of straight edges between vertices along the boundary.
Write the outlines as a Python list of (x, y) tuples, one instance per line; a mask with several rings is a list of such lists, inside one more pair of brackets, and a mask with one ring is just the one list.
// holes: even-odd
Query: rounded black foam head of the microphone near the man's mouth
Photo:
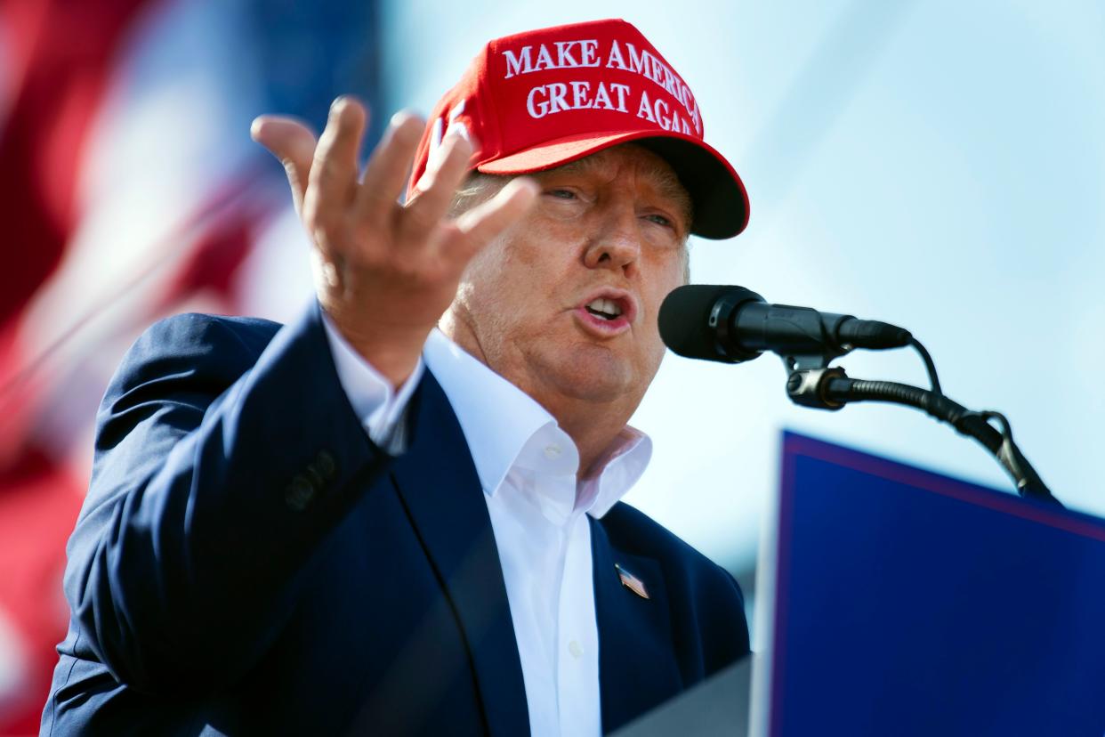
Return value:
[[(741, 302), (764, 302), (755, 292), (724, 284), (687, 284), (676, 287), (660, 305), (660, 338), (674, 352), (686, 358), (701, 358), (723, 364), (736, 364), (754, 358), (739, 355), (719, 341), (728, 330), (733, 308)], [(716, 309), (718, 303), (722, 309)], [(758, 354), (757, 354), (758, 355)]]

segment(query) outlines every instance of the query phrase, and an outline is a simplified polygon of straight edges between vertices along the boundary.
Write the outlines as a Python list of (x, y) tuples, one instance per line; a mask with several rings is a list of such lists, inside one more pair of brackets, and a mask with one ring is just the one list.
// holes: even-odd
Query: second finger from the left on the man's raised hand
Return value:
[(365, 107), (350, 97), (338, 97), (330, 106), (304, 196), (304, 219), (308, 228), (333, 225), (352, 200), (357, 187), (357, 151), (367, 117)]

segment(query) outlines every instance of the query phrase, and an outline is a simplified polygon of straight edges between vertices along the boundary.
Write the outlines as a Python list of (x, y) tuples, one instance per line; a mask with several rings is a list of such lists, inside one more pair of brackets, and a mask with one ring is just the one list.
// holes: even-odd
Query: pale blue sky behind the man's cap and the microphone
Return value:
[[(1105, 9), (1095, 2), (386, 3), (383, 99), (427, 114), (483, 42), (624, 18), (684, 77), (740, 172), (748, 229), (692, 242), (692, 281), (902, 325), (945, 392), (996, 409), (1052, 492), (1105, 516), (1095, 368), (1105, 256)], [(907, 350), (849, 376), (926, 383)], [(988, 453), (915, 410), (790, 404), (781, 361), (669, 354), (632, 423), (627, 502), (733, 570), (755, 564), (783, 429), (1003, 491)]]

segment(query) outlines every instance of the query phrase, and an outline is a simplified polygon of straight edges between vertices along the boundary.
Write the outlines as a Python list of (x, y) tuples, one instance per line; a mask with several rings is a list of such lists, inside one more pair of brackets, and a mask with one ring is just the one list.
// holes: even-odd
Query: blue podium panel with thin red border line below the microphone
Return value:
[(782, 459), (771, 735), (1105, 735), (1105, 522), (792, 433)]

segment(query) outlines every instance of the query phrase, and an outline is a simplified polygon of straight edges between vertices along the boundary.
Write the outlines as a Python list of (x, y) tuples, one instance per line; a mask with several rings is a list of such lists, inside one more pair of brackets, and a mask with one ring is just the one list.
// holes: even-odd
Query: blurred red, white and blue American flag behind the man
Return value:
[(39, 728), (115, 365), (161, 316), (308, 298), (250, 122), (371, 106), (376, 32), (365, 0), (0, 0), (0, 735)]

